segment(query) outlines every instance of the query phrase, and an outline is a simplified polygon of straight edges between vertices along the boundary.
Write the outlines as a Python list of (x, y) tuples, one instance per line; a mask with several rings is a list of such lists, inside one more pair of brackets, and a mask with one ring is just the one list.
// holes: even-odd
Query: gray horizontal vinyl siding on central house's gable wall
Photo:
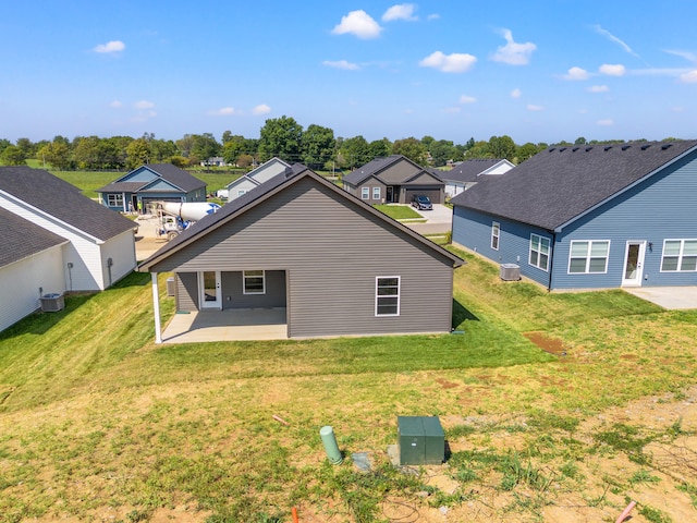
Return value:
[[(245, 269), (286, 271), (289, 337), (452, 327), (452, 260), (309, 178), (150, 270)], [(375, 316), (379, 276), (401, 277), (400, 316)]]

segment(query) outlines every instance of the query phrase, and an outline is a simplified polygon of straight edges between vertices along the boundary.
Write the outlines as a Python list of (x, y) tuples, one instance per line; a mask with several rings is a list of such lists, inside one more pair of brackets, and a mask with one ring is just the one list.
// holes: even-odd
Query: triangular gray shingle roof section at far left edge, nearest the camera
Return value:
[(0, 207), (0, 267), (20, 262), (68, 240)]

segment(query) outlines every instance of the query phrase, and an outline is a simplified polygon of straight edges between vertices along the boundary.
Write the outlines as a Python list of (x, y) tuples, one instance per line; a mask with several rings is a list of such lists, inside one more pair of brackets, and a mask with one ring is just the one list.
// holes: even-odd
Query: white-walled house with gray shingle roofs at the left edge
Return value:
[(136, 266), (133, 221), (51, 173), (0, 167), (0, 330), (44, 294), (100, 291)]

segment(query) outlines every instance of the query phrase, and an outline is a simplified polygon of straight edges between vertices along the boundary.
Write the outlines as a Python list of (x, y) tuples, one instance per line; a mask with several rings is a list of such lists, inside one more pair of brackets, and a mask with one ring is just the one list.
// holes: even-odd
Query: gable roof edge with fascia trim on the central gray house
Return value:
[(403, 226), (402, 223), (393, 220), (387, 215), (375, 209), (372, 206), (348, 194), (333, 183), (325, 180), (322, 177), (316, 174), (302, 163), (295, 163), (292, 167), (288, 168), (285, 172), (280, 173), (268, 182), (258, 185), (257, 187), (253, 188), (248, 193), (245, 193), (239, 198), (229, 202), (215, 215), (208, 215), (204, 219), (196, 222), (194, 226), (185, 230), (182, 234), (178, 235), (170, 243), (160, 248), (148, 259), (143, 262), (139, 265), (138, 270), (149, 270), (152, 266), (166, 259), (170, 254), (178, 252), (189, 243), (195, 242), (199, 238), (204, 238), (206, 234), (213, 230), (217, 230), (219, 227), (222, 227), (227, 222), (236, 219), (247, 210), (256, 207), (257, 205), (260, 205), (268, 198), (271, 198), (274, 194), (278, 194), (278, 192), (282, 191), (284, 187), (307, 178), (311, 179), (315, 183), (328, 187), (337, 195), (340, 195), (341, 198), (346, 198), (348, 202), (351, 202), (352, 205), (356, 206), (356, 210), (358, 212), (369, 212), (376, 217), (379, 217), (379, 219), (387, 223), (388, 227), (395, 228), (401, 233), (405, 233), (412, 238), (417, 239), (420, 243), (427, 245), (431, 250), (433, 256), (444, 256), (451, 263), (453, 263), (454, 266), (462, 265), (462, 259), (460, 259), (454, 254), (440, 247), (439, 245), (436, 245), (435, 243), (414, 232), (406, 226)]

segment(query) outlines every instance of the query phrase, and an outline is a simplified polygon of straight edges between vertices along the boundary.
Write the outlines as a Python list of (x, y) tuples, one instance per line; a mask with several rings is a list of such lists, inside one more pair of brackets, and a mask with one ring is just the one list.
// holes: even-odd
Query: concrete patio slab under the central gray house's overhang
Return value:
[(284, 307), (176, 313), (162, 332), (162, 343), (285, 340), (285, 313)]

